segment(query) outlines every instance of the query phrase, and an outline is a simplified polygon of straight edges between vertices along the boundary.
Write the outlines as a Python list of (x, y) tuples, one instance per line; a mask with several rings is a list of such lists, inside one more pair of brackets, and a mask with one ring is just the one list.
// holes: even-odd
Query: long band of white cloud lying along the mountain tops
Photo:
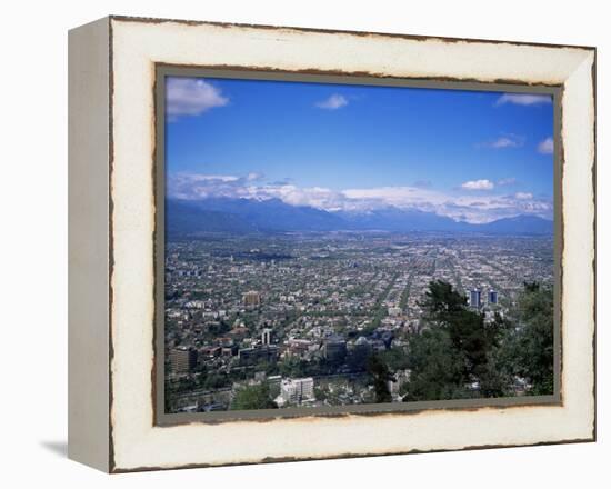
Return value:
[[(488, 182), (478, 183), (478, 182)], [(492, 182), (475, 180), (478, 188)], [(467, 182), (469, 183), (469, 182)], [(470, 186), (473, 187), (473, 186)], [(531, 193), (498, 196), (490, 193), (455, 194), (417, 187), (374, 187), (333, 190), (324, 187), (301, 188), (294, 183), (267, 183), (259, 173), (244, 177), (228, 174), (174, 173), (168, 178), (168, 197), (199, 200), (206, 198), (280, 199), (290, 206), (309, 206), (317, 209), (369, 212), (394, 207), (435, 212), (454, 220), (490, 222), (504, 217), (534, 214), (550, 219), (551, 200), (534, 199)]]

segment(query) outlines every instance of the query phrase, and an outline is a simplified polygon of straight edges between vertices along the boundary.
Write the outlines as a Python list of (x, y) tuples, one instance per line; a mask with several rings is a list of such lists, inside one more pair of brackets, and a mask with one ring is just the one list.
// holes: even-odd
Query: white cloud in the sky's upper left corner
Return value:
[(228, 103), (217, 87), (202, 79), (169, 78), (166, 83), (166, 113), (170, 118), (199, 116)]

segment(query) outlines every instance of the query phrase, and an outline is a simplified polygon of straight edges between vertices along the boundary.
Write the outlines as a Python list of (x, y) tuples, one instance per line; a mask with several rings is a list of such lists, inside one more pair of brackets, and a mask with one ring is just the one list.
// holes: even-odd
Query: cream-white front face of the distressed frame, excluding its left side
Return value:
[[(113, 22), (112, 425), (118, 469), (522, 445), (592, 435), (591, 51)], [(153, 427), (153, 63), (565, 81), (562, 407)], [(567, 373), (568, 372), (568, 373)]]

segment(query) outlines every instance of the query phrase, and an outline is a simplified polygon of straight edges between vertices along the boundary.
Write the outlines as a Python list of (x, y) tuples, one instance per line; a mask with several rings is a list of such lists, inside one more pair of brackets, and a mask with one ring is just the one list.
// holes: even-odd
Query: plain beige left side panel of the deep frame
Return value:
[(68, 457), (108, 472), (109, 20), (69, 33)]

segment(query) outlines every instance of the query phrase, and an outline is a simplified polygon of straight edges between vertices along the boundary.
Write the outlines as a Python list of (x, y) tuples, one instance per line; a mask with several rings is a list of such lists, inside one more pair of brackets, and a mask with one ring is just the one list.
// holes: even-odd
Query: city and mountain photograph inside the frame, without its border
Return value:
[(553, 100), (166, 77), (167, 413), (554, 393)]

